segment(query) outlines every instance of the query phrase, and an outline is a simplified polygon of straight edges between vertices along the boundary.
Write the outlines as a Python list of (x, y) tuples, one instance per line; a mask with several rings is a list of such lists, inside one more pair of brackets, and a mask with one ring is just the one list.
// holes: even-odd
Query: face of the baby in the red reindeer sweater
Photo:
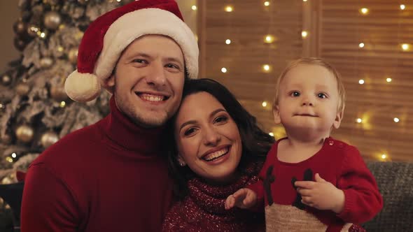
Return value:
[(339, 127), (337, 80), (327, 68), (300, 64), (286, 73), (279, 89), (274, 121), (287, 133), (306, 130), (329, 136), (332, 126)]

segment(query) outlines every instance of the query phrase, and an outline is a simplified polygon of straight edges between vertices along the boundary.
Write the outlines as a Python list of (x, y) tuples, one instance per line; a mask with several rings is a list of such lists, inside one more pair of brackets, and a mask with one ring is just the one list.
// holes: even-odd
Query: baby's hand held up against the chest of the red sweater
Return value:
[(302, 203), (318, 210), (332, 210), (342, 212), (344, 208), (344, 191), (337, 189), (330, 182), (325, 181), (316, 173), (314, 181), (296, 181), (295, 187), (301, 194)]

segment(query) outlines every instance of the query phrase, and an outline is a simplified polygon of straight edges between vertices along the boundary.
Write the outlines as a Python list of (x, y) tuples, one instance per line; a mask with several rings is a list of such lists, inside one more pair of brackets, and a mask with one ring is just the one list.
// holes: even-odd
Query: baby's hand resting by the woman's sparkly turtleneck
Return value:
[(234, 206), (241, 209), (253, 208), (257, 204), (257, 194), (251, 189), (239, 189), (234, 194), (228, 196), (225, 201), (225, 210), (230, 210)]

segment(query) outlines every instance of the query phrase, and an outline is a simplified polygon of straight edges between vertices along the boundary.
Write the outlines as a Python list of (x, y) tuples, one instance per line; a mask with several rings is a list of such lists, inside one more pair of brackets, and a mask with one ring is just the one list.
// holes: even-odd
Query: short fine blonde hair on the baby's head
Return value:
[(342, 82), (341, 75), (338, 73), (338, 71), (333, 66), (331, 66), (331, 64), (328, 64), (327, 61), (325, 61), (321, 58), (316, 58), (316, 57), (296, 59), (294, 61), (291, 61), (286, 66), (286, 68), (281, 73), (281, 75), (279, 75), (279, 78), (276, 82), (275, 98), (274, 98), (273, 107), (277, 106), (278, 103), (279, 103), (279, 90), (280, 90), (279, 87), (281, 85), (281, 81), (283, 80), (283, 78), (286, 76), (288, 71), (290, 71), (291, 69), (295, 68), (296, 66), (299, 66), (299, 65), (302, 65), (302, 64), (322, 66), (324, 68), (327, 68), (327, 70), (330, 71), (332, 73), (332, 75), (334, 75), (335, 80), (337, 80), (337, 90), (338, 90), (338, 96), (339, 96), (337, 112), (343, 114), (344, 113), (344, 103), (346, 101), (346, 90), (344, 89), (344, 85), (343, 85), (343, 82)]

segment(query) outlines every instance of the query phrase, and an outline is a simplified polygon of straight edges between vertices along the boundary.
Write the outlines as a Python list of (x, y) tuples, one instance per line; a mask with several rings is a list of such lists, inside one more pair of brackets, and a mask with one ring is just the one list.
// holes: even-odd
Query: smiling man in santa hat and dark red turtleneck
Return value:
[(163, 125), (184, 78), (197, 78), (197, 58), (173, 0), (134, 1), (92, 22), (65, 89), (91, 101), (102, 85), (113, 93), (111, 113), (31, 164), (22, 231), (161, 231), (172, 200)]

